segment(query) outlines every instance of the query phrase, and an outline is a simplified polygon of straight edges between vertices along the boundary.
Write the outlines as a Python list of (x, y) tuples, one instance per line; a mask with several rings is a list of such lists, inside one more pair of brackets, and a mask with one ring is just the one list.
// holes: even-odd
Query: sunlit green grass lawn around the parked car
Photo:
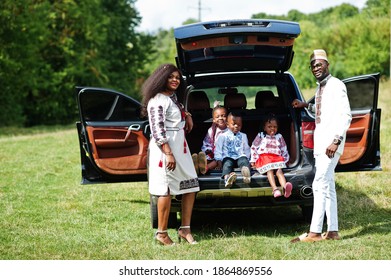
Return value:
[(2, 129), (0, 259), (389, 260), (390, 88), (379, 101), (383, 171), (337, 174), (341, 241), (290, 244), (308, 224), (281, 208), (195, 214), (197, 246), (158, 246), (146, 182), (80, 185), (76, 128)]

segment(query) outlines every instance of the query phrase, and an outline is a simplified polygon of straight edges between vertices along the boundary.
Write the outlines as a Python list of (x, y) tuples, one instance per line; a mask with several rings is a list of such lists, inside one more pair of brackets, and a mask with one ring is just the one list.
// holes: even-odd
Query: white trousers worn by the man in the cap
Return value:
[(340, 154), (333, 158), (326, 154), (315, 155), (315, 178), (312, 183), (314, 210), (310, 231), (322, 233), (324, 215), (327, 216), (327, 231), (338, 231), (337, 192), (335, 190), (334, 170)]

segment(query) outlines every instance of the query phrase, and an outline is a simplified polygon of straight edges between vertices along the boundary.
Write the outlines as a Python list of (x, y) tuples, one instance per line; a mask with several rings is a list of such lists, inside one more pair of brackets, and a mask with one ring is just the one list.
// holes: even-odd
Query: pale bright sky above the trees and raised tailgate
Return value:
[(135, 7), (142, 17), (137, 30), (154, 32), (181, 26), (189, 18), (198, 20), (199, 10), (201, 21), (210, 21), (248, 19), (260, 12), (286, 15), (293, 9), (308, 14), (342, 3), (362, 9), (366, 0), (136, 0)]

